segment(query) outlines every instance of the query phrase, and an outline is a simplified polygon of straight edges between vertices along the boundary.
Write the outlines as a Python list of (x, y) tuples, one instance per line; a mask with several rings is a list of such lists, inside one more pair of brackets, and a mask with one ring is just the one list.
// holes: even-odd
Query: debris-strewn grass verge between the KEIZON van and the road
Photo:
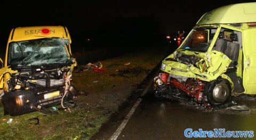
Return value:
[[(11, 117), (3, 116), (0, 104), (0, 139), (89, 139), (164, 55), (166, 52), (155, 50), (130, 53), (102, 61), (107, 69), (104, 73), (75, 71), (73, 84), (87, 94), (78, 96), (78, 106), (71, 112), (32, 112)], [(39, 124), (35, 125), (31, 118), (38, 118)], [(12, 123), (7, 123), (9, 119), (13, 119)]]

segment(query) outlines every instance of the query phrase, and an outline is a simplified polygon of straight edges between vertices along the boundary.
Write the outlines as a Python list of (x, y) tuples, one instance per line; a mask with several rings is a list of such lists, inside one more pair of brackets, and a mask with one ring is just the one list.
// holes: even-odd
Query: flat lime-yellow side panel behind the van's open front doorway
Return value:
[(247, 94), (256, 94), (256, 29), (244, 31), (243, 85)]

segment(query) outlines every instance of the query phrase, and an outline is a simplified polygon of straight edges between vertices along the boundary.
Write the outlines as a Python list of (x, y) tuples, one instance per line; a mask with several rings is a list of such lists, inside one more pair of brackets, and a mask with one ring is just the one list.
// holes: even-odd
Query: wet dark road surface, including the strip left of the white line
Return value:
[[(143, 81), (141, 88), (150, 83), (150, 80), (155, 75), (154, 73), (157, 73), (156, 71), (153, 70)], [(198, 130), (199, 128), (203, 130), (225, 128), (226, 131), (253, 130), (255, 135), (255, 96), (233, 97), (231, 101), (236, 104), (209, 109), (204, 108), (204, 105), (188, 102), (187, 99), (179, 101), (158, 100), (154, 97), (153, 85), (150, 87), (117, 139), (186, 139), (184, 130), (187, 128), (192, 128), (193, 130)], [(140, 87), (138, 90), (140, 90)], [(140, 100), (137, 95), (134, 93), (127, 100), (128, 102), (125, 102), (119, 108), (119, 111), (114, 113), (91, 139), (109, 139), (125, 120), (132, 106)], [(241, 139), (255, 139), (255, 137)]]

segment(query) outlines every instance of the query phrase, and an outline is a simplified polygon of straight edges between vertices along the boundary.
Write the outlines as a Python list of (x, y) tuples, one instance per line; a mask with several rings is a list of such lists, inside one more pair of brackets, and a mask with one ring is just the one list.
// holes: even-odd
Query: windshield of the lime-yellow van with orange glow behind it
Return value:
[(211, 39), (213, 38), (215, 31), (216, 29), (210, 28), (198, 28), (196, 30), (192, 30), (181, 48), (195, 52), (206, 52), (210, 46)]

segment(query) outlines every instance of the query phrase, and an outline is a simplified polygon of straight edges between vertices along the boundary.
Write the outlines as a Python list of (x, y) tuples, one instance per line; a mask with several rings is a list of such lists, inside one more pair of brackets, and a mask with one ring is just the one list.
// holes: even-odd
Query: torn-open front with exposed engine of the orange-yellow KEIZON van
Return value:
[(11, 75), (7, 81), (8, 92), (3, 96), (5, 111), (16, 116), (25, 112), (38, 110), (71, 100), (78, 92), (71, 85), (73, 69), (23, 70)]

